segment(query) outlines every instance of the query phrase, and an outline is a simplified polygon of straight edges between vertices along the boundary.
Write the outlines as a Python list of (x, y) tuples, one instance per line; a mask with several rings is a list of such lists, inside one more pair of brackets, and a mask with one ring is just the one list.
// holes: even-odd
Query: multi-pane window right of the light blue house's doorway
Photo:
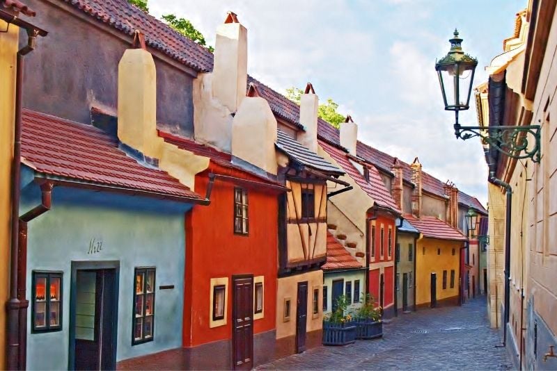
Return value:
[(151, 341), (154, 327), (155, 268), (136, 268), (132, 345)]

